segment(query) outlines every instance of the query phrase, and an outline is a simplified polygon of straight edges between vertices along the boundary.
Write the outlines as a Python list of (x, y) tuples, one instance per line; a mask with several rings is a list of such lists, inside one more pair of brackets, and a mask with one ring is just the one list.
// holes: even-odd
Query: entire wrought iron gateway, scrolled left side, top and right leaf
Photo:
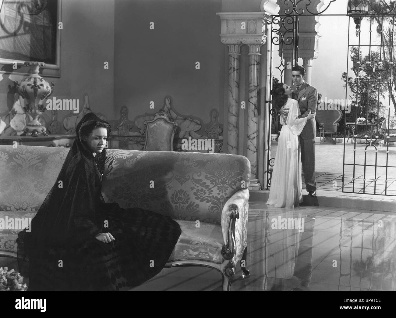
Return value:
[[(311, 1), (310, 0), (282, 0), (278, 1), (282, 2), (281, 12), (278, 15), (273, 15), (270, 21), (271, 25), (271, 38), (268, 39), (268, 45), (270, 46), (271, 52), (271, 63), (272, 65), (272, 52), (273, 46), (279, 46), (280, 50), (280, 65), (274, 67), (274, 69), (278, 69), (280, 72), (280, 81), (284, 81), (284, 71), (288, 65), (285, 65), (284, 59), (284, 47), (292, 46), (293, 47), (293, 65), (298, 64), (298, 54), (299, 54), (299, 17), (304, 15), (332, 15), (326, 14), (326, 10), (329, 8), (332, 2), (335, 0), (331, 0), (326, 8), (321, 8), (320, 12), (314, 12), (312, 10)], [(348, 61), (350, 59), (350, 53), (352, 52), (352, 48), (355, 52), (360, 52), (360, 48), (368, 48), (367, 59), (364, 59), (364, 62), (367, 65), (359, 65), (360, 64), (360, 54), (358, 54), (358, 75), (352, 79), (352, 86), (355, 85), (357, 94), (354, 95), (354, 123), (352, 120), (347, 119), (347, 116), (343, 115), (342, 124), (344, 125), (344, 144), (343, 144), (343, 174), (342, 174), (342, 191), (350, 192), (350, 193), (372, 193), (372, 194), (381, 194), (381, 195), (396, 195), (396, 167), (394, 166), (395, 156), (391, 157), (390, 149), (392, 146), (389, 145), (389, 141), (392, 140), (392, 133), (394, 134), (394, 139), (396, 140), (396, 131), (392, 131), (394, 127), (396, 129), (396, 120), (391, 116), (391, 107), (395, 107), (396, 105), (396, 93), (394, 92), (394, 83), (396, 83), (394, 77), (396, 76), (396, 51), (394, 52), (394, 24), (395, 24), (395, 4), (384, 4), (379, 1), (379, 6), (381, 10), (377, 10), (371, 6), (370, 2), (364, 0), (349, 0), (348, 1), (348, 9), (349, 11), (343, 16), (345, 18), (349, 17), (349, 27), (348, 27)], [(368, 4), (367, 4), (368, 3)], [(381, 4), (382, 3), (382, 4)], [(369, 7), (367, 8), (367, 5)], [(359, 7), (360, 6), (360, 7)], [(351, 10), (351, 8), (354, 8)], [(364, 8), (363, 8), (364, 7)], [(361, 11), (359, 11), (360, 9)], [(355, 10), (355, 11), (354, 11)], [(376, 11), (377, 10), (377, 11)], [(367, 11), (367, 12), (364, 12)], [(337, 14), (340, 15), (340, 14)], [(366, 20), (364, 20), (366, 19)], [(370, 25), (369, 34), (367, 34), (367, 38), (369, 38), (368, 44), (361, 43), (361, 38), (364, 36), (361, 34), (360, 25), (362, 20), (367, 21)], [(352, 23), (351, 23), (352, 21)], [(381, 34), (381, 43), (379, 45), (372, 44), (372, 33), (373, 26), (376, 26), (375, 31), (380, 31), (383, 28), (385, 21), (391, 25), (391, 29), (389, 31), (389, 36), (386, 42), (386, 38), (384, 34)], [(355, 32), (356, 29), (356, 40), (352, 41), (350, 37), (350, 32)], [(270, 41), (269, 41), (270, 40)], [(395, 41), (396, 42), (396, 41)], [(379, 57), (373, 59), (375, 54), (371, 53), (371, 49), (374, 47), (379, 47), (381, 50), (379, 52)], [(388, 52), (388, 56), (384, 53), (384, 50)], [(382, 52), (382, 53), (381, 53)], [(363, 61), (363, 60), (362, 60)], [(375, 65), (373, 63), (376, 63)], [(378, 63), (381, 62), (381, 63)], [(345, 85), (345, 102), (349, 100), (350, 89), (348, 91), (348, 67), (350, 64), (347, 64), (346, 70), (346, 85)], [(356, 66), (355, 66), (356, 67)], [(365, 70), (366, 77), (360, 78), (360, 72)], [(371, 72), (369, 71), (371, 70)], [(270, 78), (272, 79), (273, 69), (270, 69)], [(390, 75), (390, 76), (389, 76)], [(386, 79), (387, 78), (387, 79)], [(371, 82), (370, 82), (371, 81)], [(370, 100), (373, 91), (370, 93), (370, 83), (371, 86), (373, 82), (377, 82), (377, 90), (374, 89), (375, 94), (377, 94), (377, 114), (373, 115), (373, 107), (372, 100)], [(359, 98), (360, 87), (362, 85), (366, 85), (368, 87), (367, 98), (364, 99), (365, 104), (362, 104), (362, 99)], [(375, 88), (375, 86), (373, 86)], [(384, 88), (383, 88), (384, 87)], [(393, 95), (389, 94), (388, 97), (388, 113), (386, 116), (386, 120), (382, 121), (380, 114), (380, 97), (381, 97), (381, 88), (382, 92), (388, 88), (390, 92), (393, 91)], [(270, 80), (270, 89), (272, 92), (272, 80)], [(266, 101), (267, 107), (270, 107), (269, 113), (270, 116), (268, 118), (268, 140), (267, 146), (270, 149), (271, 145), (271, 126), (273, 124), (273, 119), (275, 117), (279, 117), (277, 109), (272, 105), (272, 95), (270, 94), (268, 100)], [(366, 113), (369, 114), (371, 112), (371, 117), (375, 118), (374, 122), (369, 121), (369, 116), (365, 116), (366, 120), (364, 124), (360, 123), (358, 118), (359, 114)], [(348, 117), (351, 118), (351, 117)], [(348, 124), (349, 123), (349, 124)], [(394, 125), (394, 126), (393, 126)], [(381, 128), (385, 127), (385, 128)], [(384, 135), (381, 139), (381, 133)], [(364, 140), (360, 140), (359, 136), (362, 135)], [(278, 134), (279, 136), (279, 134)], [(379, 144), (383, 141), (381, 144)], [(352, 145), (350, 144), (352, 142)], [(366, 144), (363, 144), (365, 142)], [(382, 145), (382, 146), (380, 146)], [(340, 145), (341, 146), (341, 145)], [(379, 149), (381, 147), (381, 149)], [(384, 150), (386, 149), (386, 150)], [(381, 153), (382, 151), (382, 153)], [(383, 156), (378, 156), (378, 153), (381, 153)], [(384, 156), (385, 154), (385, 156)], [(385, 159), (384, 159), (385, 157)], [(274, 156), (268, 157), (267, 161), (267, 189), (271, 184), (271, 173), (272, 167), (274, 166), (275, 158)], [(393, 186), (392, 186), (393, 185)], [(339, 186), (341, 187), (341, 186)], [(394, 188), (393, 188), (394, 187)]]

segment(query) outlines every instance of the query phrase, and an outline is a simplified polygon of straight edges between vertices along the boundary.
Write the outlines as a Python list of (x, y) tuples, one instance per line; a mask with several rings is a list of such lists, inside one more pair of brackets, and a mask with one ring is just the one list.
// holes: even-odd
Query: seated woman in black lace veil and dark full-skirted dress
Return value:
[(57, 180), (19, 232), (28, 290), (128, 290), (158, 274), (181, 234), (168, 216), (105, 203), (101, 181), (110, 125), (86, 114)]

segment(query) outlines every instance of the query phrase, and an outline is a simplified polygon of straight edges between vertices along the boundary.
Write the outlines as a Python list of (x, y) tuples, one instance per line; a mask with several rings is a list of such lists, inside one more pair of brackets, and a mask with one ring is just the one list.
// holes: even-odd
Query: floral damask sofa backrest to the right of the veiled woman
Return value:
[(102, 183), (107, 202), (175, 219), (221, 224), (226, 201), (249, 183), (249, 161), (242, 156), (112, 149), (107, 153), (111, 165)]

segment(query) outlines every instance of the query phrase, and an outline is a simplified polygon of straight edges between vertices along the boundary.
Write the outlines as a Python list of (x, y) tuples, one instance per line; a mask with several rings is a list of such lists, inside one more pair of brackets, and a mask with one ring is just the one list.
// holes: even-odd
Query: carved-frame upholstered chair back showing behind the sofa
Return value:
[(163, 109), (154, 115), (154, 119), (145, 121), (146, 142), (143, 150), (173, 151), (173, 137), (177, 123), (170, 121)]

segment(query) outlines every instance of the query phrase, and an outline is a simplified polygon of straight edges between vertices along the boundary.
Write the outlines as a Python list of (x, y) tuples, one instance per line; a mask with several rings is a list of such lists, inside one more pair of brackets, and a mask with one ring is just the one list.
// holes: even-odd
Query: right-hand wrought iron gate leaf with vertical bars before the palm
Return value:
[[(345, 116), (344, 121), (342, 190), (348, 193), (396, 195), (396, 155), (391, 157), (392, 146), (389, 146), (392, 135), (390, 128), (394, 125), (392, 108), (396, 105), (396, 8), (395, 3), (385, 2), (367, 2), (366, 6), (363, 14), (360, 12), (359, 15), (354, 15), (348, 11), (350, 17), (346, 79), (350, 84), (345, 85), (345, 100), (354, 93), (352, 104), (355, 116), (349, 121)], [(363, 23), (369, 24), (367, 32), (361, 29)], [(351, 71), (355, 78), (349, 80), (348, 72)], [(381, 116), (381, 97), (386, 95), (386, 90), (387, 111), (383, 114), (385, 116)]]

